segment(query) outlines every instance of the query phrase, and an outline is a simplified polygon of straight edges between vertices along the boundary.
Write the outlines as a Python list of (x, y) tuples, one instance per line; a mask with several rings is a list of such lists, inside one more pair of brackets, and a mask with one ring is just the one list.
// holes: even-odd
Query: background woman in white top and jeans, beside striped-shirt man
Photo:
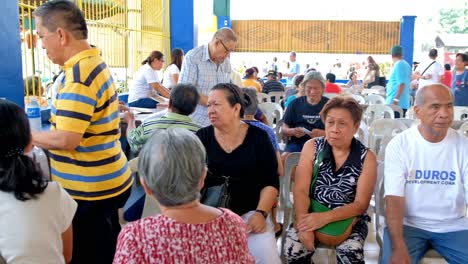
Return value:
[(133, 76), (133, 83), (128, 94), (128, 105), (132, 107), (156, 108), (158, 104), (155, 97), (158, 95), (169, 98), (169, 90), (161, 85), (158, 74), (164, 66), (164, 54), (153, 51), (141, 62), (140, 69)]

